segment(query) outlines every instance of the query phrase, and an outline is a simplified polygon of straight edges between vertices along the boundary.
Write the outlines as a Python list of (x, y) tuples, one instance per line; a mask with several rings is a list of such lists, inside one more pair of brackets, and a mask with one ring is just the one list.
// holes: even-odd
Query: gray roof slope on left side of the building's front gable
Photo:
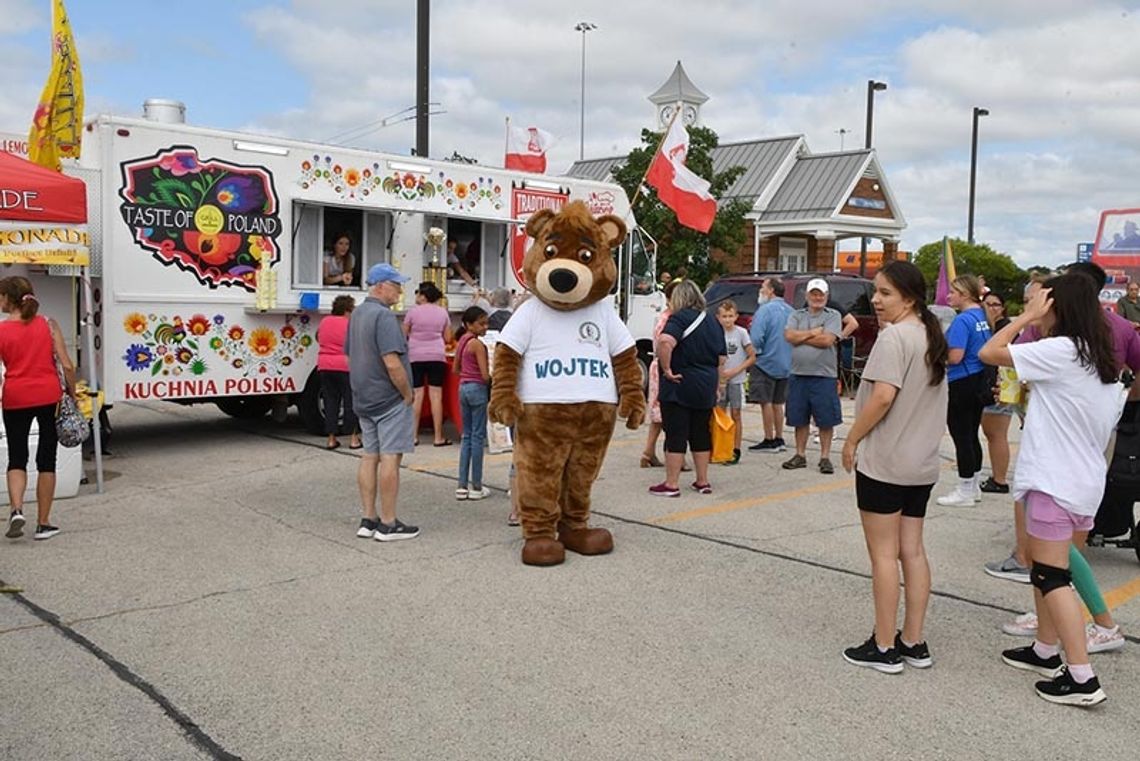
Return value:
[(762, 222), (829, 218), (857, 179), (870, 150), (801, 156), (760, 214)]

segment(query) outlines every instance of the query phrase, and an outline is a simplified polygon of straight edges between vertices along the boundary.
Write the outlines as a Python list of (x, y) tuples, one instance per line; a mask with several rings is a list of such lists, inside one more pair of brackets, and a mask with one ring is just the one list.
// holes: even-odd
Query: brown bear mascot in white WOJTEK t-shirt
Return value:
[(605, 529), (589, 527), (589, 492), (617, 417), (645, 417), (637, 347), (605, 300), (618, 277), (611, 251), (626, 237), (612, 214), (580, 201), (527, 220), (535, 243), (522, 270), (534, 296), (495, 346), (490, 418), (515, 426), (515, 489), (527, 565), (557, 565), (564, 550), (603, 555)]

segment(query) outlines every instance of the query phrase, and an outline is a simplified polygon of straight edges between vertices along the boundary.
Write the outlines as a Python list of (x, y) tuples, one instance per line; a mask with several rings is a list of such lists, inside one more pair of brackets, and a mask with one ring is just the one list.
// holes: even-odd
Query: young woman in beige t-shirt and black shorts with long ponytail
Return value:
[[(950, 350), (938, 318), (926, 305), (926, 279), (910, 262), (890, 262), (874, 277), (871, 297), (880, 333), (855, 398), (855, 423), (844, 444), (844, 468), (855, 470), (855, 498), (871, 556), (874, 631), (844, 660), (883, 673), (903, 663), (934, 664), (922, 637), (930, 600), (930, 564), (922, 524), (942, 461)], [(863, 452), (856, 463), (856, 453)], [(906, 582), (898, 619), (898, 566)]]

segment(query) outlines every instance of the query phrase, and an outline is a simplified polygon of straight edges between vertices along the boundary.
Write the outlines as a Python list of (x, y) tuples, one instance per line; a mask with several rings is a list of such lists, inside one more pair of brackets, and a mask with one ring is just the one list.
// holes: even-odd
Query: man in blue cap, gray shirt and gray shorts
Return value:
[[(349, 357), (352, 409), (360, 419), (364, 456), (357, 485), (364, 517), (357, 537), (377, 541), (415, 539), (420, 529), (396, 518), (400, 460), (413, 450), (412, 365), (408, 342), (391, 306), (408, 278), (391, 264), (374, 264), (365, 278), (368, 297), (352, 312), (344, 353)], [(376, 516), (377, 470), (380, 517)]]

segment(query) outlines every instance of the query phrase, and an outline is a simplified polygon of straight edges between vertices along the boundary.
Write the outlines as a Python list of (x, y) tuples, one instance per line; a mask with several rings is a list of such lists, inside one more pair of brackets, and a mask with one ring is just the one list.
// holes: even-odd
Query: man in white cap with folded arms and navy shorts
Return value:
[(784, 469), (807, 467), (807, 434), (812, 418), (820, 427), (820, 473), (836, 472), (831, 464), (831, 436), (842, 423), (839, 407), (839, 374), (836, 342), (842, 333), (839, 312), (828, 306), (828, 281), (807, 281), (807, 305), (788, 317), (784, 338), (791, 344), (791, 380), (788, 384), (785, 414), (796, 429), (796, 455)]

